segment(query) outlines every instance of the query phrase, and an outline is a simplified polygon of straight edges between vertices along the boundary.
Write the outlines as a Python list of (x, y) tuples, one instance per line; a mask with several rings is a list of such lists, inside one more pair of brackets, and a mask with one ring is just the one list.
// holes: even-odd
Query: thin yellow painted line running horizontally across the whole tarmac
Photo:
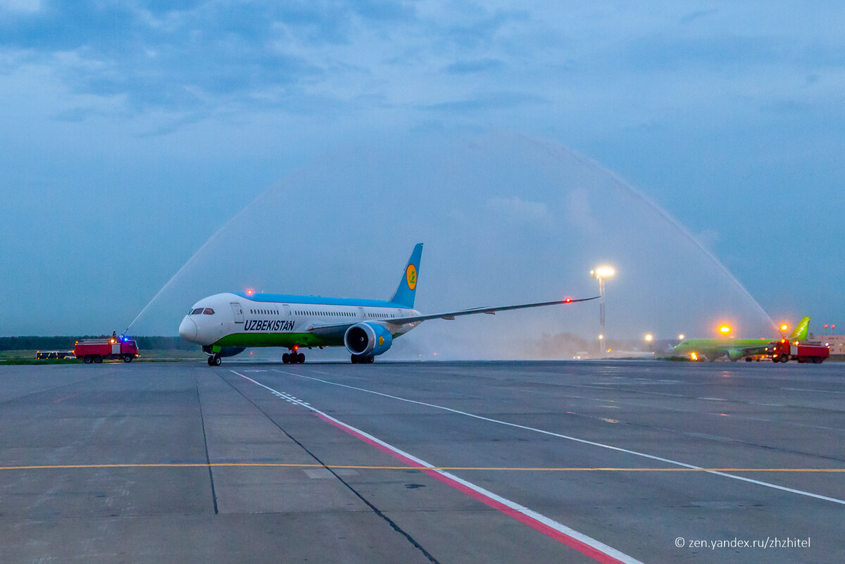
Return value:
[(845, 473), (845, 468), (525, 468), (501, 466), (369, 466), (361, 464), (285, 464), (275, 462), (213, 462), (205, 463), (152, 463), (152, 464), (50, 464), (40, 466), (0, 466), (0, 470), (51, 470), (96, 468), (329, 468), (357, 470), (483, 470), (504, 472), (826, 472)]

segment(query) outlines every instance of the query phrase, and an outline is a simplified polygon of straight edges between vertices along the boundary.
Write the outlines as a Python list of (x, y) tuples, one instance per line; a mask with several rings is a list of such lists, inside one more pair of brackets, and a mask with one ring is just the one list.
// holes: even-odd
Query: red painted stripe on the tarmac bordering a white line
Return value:
[[(413, 466), (415, 469), (420, 469), (419, 468), (420, 464), (417, 461), (414, 461), (411, 458), (407, 458), (405, 455), (403, 455), (401, 453), (397, 453), (395, 450), (391, 449), (390, 447), (386, 447), (383, 444), (380, 444), (379, 442), (375, 442), (372, 439), (370, 439), (369, 437), (364, 437), (361, 433), (357, 432), (354, 428), (346, 426), (345, 424), (343, 424), (339, 421), (331, 420), (328, 417), (326, 417), (325, 415), (322, 415), (320, 413), (315, 413), (314, 415), (317, 415), (321, 420), (324, 420), (325, 422), (330, 423), (331, 425), (337, 427), (338, 429), (341, 429), (341, 431), (346, 431), (347, 433), (349, 433), (353, 437), (356, 437), (357, 439), (359, 439), (363, 442), (366, 442), (373, 447), (378, 448), (383, 453), (388, 453), (393, 458), (397, 458), (397, 459), (401, 460), (402, 462), (404, 462), (405, 464), (408, 464), (409, 466)], [(613, 558), (613, 556), (605, 554), (601, 550), (598, 550), (598, 549), (596, 549), (596, 548), (594, 548), (590, 545), (587, 545), (586, 543), (581, 542), (581, 540), (575, 539), (574, 537), (571, 537), (568, 534), (561, 533), (559, 530), (552, 529), (547, 524), (541, 523), (537, 519), (532, 518), (531, 516), (526, 515), (525, 513), (516, 511), (512, 507), (508, 507), (508, 506), (504, 505), (504, 503), (499, 502), (499, 501), (493, 499), (490, 496), (486, 496), (480, 491), (475, 491), (472, 488), (466, 487), (466, 485), (461, 484), (461, 482), (453, 480), (449, 476), (445, 476), (445, 475), (441, 474), (440, 472), (438, 472), (437, 470), (432, 470), (432, 469), (420, 469), (420, 470), (422, 472), (424, 472), (425, 474), (431, 476), (435, 480), (439, 480), (446, 485), (450, 485), (451, 487), (455, 488), (455, 490), (461, 491), (464, 494), (466, 494), (467, 496), (470, 496), (473, 499), (477, 500), (478, 502), (482, 502), (483, 504), (485, 504), (489, 507), (493, 507), (493, 509), (497, 509), (498, 511), (503, 512), (508, 517), (513, 518), (513, 519), (519, 521), (520, 523), (526, 524), (529, 527), (531, 527), (532, 529), (535, 529), (538, 532), (545, 534), (545, 535), (553, 538), (554, 540), (557, 540), (560, 543), (563, 543), (564, 545), (569, 546), (570, 548), (578, 550), (579, 552), (581, 552), (581, 554), (583, 554), (585, 556), (589, 556), (590, 558), (592, 558), (595, 561), (602, 562), (602, 564), (624, 564), (624, 562), (622, 562), (622, 561), (620, 561), (616, 558)]]

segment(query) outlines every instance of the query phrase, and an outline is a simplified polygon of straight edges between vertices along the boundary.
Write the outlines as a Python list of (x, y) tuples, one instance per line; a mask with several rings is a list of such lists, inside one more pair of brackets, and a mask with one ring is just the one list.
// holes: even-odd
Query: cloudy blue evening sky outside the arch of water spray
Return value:
[(773, 317), (845, 327), (843, 24), (826, 2), (0, 0), (0, 290), (28, 300), (0, 334), (131, 319), (320, 155), (488, 128), (616, 172)]

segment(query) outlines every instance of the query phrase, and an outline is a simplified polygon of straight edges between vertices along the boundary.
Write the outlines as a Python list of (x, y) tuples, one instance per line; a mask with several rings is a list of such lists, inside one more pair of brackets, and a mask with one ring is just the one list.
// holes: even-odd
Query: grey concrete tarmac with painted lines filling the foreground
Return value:
[(840, 364), (0, 366), (0, 562), (841, 562), (843, 402)]

